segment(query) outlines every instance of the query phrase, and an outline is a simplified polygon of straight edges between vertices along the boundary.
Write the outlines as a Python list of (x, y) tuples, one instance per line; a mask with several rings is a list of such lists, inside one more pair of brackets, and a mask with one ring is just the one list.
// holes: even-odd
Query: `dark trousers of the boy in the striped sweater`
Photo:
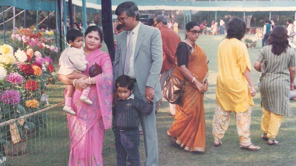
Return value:
[(139, 145), (139, 128), (123, 131), (116, 127), (115, 148), (117, 166), (126, 166), (127, 164), (132, 166), (140, 165)]

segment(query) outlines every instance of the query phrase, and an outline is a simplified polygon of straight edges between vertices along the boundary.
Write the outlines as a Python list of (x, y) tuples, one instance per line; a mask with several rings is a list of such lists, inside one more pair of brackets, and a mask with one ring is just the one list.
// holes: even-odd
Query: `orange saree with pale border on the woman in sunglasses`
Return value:
[[(208, 76), (207, 57), (204, 50), (194, 45), (194, 51), (188, 58), (188, 70), (203, 83)], [(176, 67), (174, 75), (183, 80), (183, 75)], [(186, 81), (183, 106), (176, 105), (176, 116), (167, 135), (176, 138), (176, 143), (187, 151), (202, 151), (206, 146), (206, 125), (204, 117), (204, 93)]]

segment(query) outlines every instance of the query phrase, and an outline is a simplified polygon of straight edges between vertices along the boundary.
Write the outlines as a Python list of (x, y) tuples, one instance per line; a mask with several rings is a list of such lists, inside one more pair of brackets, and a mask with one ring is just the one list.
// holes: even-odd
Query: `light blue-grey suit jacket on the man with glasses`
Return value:
[[(123, 75), (124, 60), (126, 56), (127, 31), (116, 37), (115, 60), (113, 62), (114, 90), (115, 80)], [(159, 74), (162, 67), (163, 50), (160, 31), (158, 28), (140, 23), (134, 55), (134, 71), (140, 94), (144, 101), (146, 86), (155, 90), (154, 101), (162, 97)]]

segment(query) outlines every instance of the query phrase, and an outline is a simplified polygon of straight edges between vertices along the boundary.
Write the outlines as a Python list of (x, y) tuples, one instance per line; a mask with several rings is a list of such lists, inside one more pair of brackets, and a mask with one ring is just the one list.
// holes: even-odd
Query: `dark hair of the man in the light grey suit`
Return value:
[(140, 12), (135, 2), (132, 2), (132, 1), (122, 2), (117, 6), (115, 10), (115, 14), (119, 16), (121, 15), (121, 13), (123, 13), (123, 11), (125, 11), (126, 15), (129, 17), (135, 15), (136, 21), (140, 20)]

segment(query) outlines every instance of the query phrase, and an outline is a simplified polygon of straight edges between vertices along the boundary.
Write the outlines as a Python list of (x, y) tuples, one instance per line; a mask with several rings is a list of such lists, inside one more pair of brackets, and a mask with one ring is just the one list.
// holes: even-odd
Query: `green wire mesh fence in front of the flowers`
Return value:
[[(66, 86), (56, 75), (26, 83), (0, 88), (0, 165), (67, 165), (69, 132), (62, 111)], [(113, 143), (110, 129), (103, 156)]]

